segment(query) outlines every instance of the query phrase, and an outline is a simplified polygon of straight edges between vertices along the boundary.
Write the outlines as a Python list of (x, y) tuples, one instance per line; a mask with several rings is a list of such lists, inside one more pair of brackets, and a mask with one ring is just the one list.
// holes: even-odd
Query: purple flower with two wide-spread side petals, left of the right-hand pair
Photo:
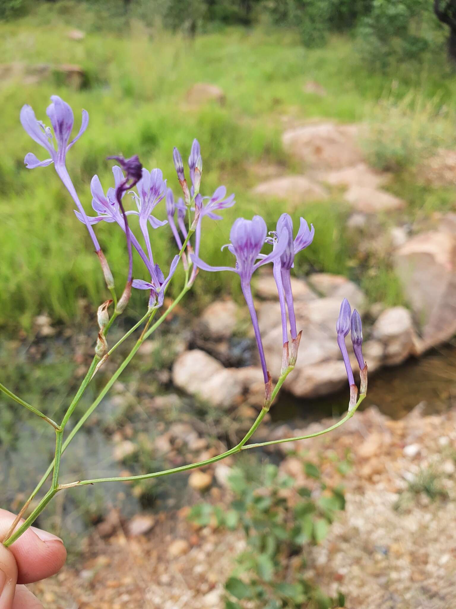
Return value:
[(190, 256), (195, 266), (199, 267), (199, 269), (208, 271), (230, 270), (238, 273), (240, 276), (241, 288), (249, 308), (252, 324), (254, 326), (255, 339), (257, 340), (261, 368), (263, 368), (264, 383), (266, 385), (269, 382), (268, 367), (266, 366), (266, 359), (264, 357), (263, 343), (261, 342), (257, 313), (255, 311), (254, 300), (252, 298), (252, 290), (250, 289), (250, 280), (258, 267), (274, 261), (274, 259), (282, 255), (286, 247), (286, 240), (282, 236), (278, 239), (275, 249), (268, 254), (268, 256), (265, 256), (257, 262), (258, 255), (263, 247), (267, 232), (268, 229), (266, 228), (266, 222), (264, 222), (261, 216), (254, 216), (252, 220), (245, 220), (244, 218), (238, 218), (235, 220), (230, 231), (231, 243), (228, 245), (228, 249), (236, 257), (235, 268), (226, 266), (213, 267), (206, 264), (206, 262), (202, 261), (201, 258), (198, 258), (196, 255)]

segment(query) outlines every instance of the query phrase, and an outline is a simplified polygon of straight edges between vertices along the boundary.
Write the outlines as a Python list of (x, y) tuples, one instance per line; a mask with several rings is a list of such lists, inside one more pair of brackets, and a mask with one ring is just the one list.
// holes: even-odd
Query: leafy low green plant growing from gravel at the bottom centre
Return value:
[(303, 469), (313, 490), (281, 476), (272, 463), (247, 463), (230, 476), (230, 509), (208, 503), (193, 507), (194, 522), (206, 526), (215, 519), (217, 526), (242, 529), (246, 538), (246, 549), (225, 583), (226, 609), (344, 607), (342, 593), (330, 598), (303, 577), (305, 549), (326, 537), (345, 507), (344, 493), (328, 488), (314, 463), (303, 462)]

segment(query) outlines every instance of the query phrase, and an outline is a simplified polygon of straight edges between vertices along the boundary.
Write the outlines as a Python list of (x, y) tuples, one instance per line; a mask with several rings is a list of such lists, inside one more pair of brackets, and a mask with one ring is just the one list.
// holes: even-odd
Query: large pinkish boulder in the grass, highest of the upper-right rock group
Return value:
[(340, 169), (361, 162), (357, 135), (358, 125), (326, 122), (286, 130), (282, 143), (286, 152), (306, 165)]

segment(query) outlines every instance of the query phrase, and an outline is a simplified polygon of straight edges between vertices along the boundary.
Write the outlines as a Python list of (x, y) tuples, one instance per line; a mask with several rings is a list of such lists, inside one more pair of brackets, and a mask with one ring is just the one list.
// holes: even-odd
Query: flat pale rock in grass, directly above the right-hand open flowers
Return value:
[(328, 192), (317, 182), (309, 180), (303, 175), (287, 175), (281, 178), (268, 180), (252, 190), (263, 199), (277, 199), (286, 201), (292, 209), (302, 203), (320, 201), (328, 198)]

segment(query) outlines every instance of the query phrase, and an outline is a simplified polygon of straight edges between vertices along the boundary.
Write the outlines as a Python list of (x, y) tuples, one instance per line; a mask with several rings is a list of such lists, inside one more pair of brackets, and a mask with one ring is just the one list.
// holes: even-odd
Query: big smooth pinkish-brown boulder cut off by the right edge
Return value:
[(402, 289), (420, 323), (420, 353), (456, 332), (456, 235), (418, 234), (395, 253)]

